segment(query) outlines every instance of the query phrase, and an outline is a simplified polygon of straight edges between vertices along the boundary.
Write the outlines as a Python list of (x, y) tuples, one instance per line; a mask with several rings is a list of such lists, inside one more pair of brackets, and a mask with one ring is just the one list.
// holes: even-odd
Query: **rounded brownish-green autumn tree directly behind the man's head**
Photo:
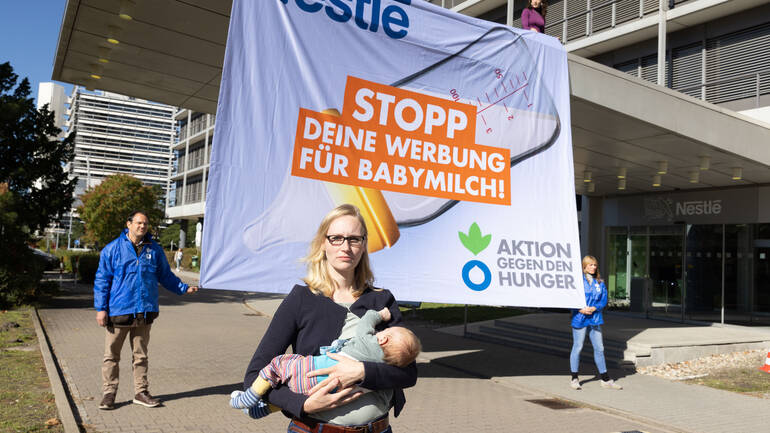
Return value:
[(164, 216), (163, 191), (158, 186), (145, 186), (127, 174), (115, 174), (80, 197), (78, 208), (86, 224), (86, 242), (104, 246), (126, 228), (126, 217), (132, 211), (147, 213), (150, 225), (157, 227)]

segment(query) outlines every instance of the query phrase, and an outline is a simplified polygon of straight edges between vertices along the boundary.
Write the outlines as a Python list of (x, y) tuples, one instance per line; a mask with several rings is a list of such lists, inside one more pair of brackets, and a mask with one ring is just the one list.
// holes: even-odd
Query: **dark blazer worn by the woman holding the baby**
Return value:
[[(350, 311), (361, 317), (367, 310), (390, 310), (391, 320), (381, 323), (377, 330), (401, 324), (401, 312), (396, 300), (387, 290), (367, 289), (350, 307)], [(251, 386), (270, 361), (286, 352), (291, 346), (299, 355), (319, 355), (321, 346), (329, 345), (342, 332), (347, 310), (332, 299), (316, 295), (307, 286), (296, 285), (281, 302), (270, 326), (249, 362), (244, 378), (244, 389)], [(413, 362), (399, 368), (381, 362), (364, 362), (364, 381), (367, 389), (393, 389), (394, 415), (398, 416), (406, 398), (403, 388), (417, 383), (417, 365)], [(302, 406), (306, 395), (296, 394), (288, 387), (279, 387), (268, 392), (266, 399), (296, 418), (305, 417)]]

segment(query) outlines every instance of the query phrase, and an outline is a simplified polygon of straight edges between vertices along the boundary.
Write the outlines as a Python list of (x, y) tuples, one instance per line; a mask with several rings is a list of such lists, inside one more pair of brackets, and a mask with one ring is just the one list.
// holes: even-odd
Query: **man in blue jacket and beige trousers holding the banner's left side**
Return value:
[(160, 405), (147, 384), (147, 345), (152, 321), (158, 317), (158, 282), (177, 295), (198, 291), (171, 272), (163, 248), (147, 233), (150, 227), (144, 212), (132, 212), (126, 226), (102, 250), (94, 280), (96, 323), (107, 328), (102, 364), (104, 397), (99, 409), (115, 407), (120, 351), (126, 337), (130, 337), (134, 361), (133, 401), (146, 407)]

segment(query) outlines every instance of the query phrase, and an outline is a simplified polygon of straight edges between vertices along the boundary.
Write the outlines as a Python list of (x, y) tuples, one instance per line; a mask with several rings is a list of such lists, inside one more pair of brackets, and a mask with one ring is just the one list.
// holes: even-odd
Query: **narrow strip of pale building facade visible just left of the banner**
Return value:
[[(200, 246), (216, 116), (182, 109), (174, 119), (179, 129), (172, 146), (174, 161), (166, 216), (181, 220), (183, 232), (190, 221), (194, 222), (194, 243)], [(183, 242), (192, 245), (193, 239)]]

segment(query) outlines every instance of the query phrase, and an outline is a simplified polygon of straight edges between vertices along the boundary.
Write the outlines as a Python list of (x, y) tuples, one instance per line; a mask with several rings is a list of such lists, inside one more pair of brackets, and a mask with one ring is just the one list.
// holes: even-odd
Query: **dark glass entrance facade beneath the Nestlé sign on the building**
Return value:
[(633, 311), (770, 325), (770, 224), (607, 227), (606, 242), (610, 297)]

